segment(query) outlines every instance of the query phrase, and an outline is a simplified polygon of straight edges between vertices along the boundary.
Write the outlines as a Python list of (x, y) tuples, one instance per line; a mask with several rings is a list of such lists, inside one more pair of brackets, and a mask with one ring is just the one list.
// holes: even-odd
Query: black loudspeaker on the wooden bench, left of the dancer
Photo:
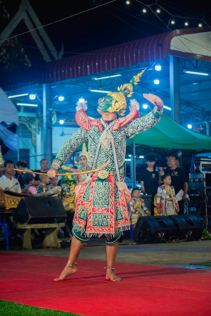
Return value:
[(22, 197), (13, 213), (20, 224), (52, 224), (65, 222), (66, 210), (58, 196)]

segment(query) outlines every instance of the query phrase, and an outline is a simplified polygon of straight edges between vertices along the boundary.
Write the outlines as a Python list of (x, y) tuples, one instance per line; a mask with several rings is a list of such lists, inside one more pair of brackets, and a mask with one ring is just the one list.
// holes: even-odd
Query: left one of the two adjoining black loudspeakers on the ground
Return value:
[(169, 241), (177, 227), (167, 216), (143, 216), (136, 223), (133, 239), (137, 243)]

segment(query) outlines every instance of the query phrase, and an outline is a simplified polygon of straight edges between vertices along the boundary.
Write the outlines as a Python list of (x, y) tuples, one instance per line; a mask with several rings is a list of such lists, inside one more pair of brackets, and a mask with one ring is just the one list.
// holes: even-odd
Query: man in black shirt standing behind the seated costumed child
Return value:
[(159, 186), (159, 173), (154, 169), (155, 157), (148, 156), (146, 165), (147, 167), (140, 172), (141, 191), (151, 195), (151, 215), (153, 215), (154, 195), (157, 193), (157, 187)]

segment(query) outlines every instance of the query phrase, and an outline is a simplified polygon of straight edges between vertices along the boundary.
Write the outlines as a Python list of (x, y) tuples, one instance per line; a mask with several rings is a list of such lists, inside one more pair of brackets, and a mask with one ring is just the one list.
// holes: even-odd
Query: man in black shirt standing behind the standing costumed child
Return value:
[(180, 212), (179, 215), (184, 214), (184, 201), (187, 200), (187, 192), (188, 192), (188, 177), (186, 175), (186, 172), (178, 167), (179, 165), (179, 157), (172, 155), (169, 156), (167, 159), (167, 165), (168, 167), (164, 170), (164, 173), (171, 176), (172, 179), (172, 186), (175, 189), (175, 193), (177, 193), (180, 190), (183, 190), (183, 196), (182, 200), (179, 201), (180, 206)]

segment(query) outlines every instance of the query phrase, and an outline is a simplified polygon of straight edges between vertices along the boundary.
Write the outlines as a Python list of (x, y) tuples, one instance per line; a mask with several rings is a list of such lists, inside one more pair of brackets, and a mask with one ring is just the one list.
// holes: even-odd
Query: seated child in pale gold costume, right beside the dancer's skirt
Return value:
[(129, 201), (129, 214), (133, 230), (136, 223), (141, 216), (150, 216), (150, 212), (145, 205), (144, 199), (140, 197), (140, 191), (138, 188), (133, 188), (131, 191), (131, 199)]

